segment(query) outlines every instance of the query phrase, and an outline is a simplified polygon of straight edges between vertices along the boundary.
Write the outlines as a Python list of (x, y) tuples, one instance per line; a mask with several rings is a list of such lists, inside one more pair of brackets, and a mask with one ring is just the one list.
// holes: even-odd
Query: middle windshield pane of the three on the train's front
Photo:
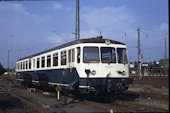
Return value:
[(101, 47), (102, 63), (116, 63), (115, 48)]

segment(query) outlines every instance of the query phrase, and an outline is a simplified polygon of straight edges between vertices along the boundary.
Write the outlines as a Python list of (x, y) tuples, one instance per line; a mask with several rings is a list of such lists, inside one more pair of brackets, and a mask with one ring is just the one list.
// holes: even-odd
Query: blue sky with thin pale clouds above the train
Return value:
[[(23, 58), (75, 39), (76, 0), (1, 1), (0, 63)], [(127, 45), (137, 61), (140, 27), (142, 62), (169, 58), (168, 0), (80, 0), (80, 38), (102, 35)]]

